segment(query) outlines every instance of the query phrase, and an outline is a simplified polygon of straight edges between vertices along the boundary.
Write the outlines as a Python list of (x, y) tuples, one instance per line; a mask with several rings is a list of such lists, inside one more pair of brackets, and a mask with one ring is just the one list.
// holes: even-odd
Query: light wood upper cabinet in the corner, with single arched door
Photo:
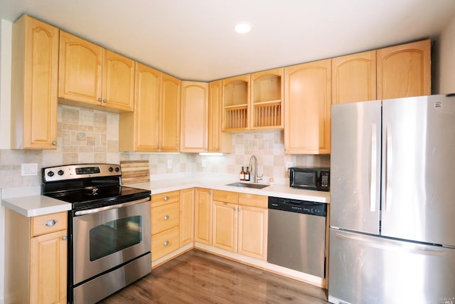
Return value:
[(208, 152), (208, 83), (181, 83), (181, 152)]

